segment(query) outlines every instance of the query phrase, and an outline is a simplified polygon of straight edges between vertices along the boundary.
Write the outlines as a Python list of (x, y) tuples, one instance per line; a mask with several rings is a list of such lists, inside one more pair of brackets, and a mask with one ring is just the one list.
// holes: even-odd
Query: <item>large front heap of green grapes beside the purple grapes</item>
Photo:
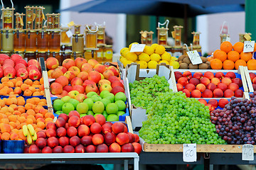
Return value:
[(181, 91), (156, 96), (139, 137), (149, 144), (225, 144), (210, 122), (208, 106)]

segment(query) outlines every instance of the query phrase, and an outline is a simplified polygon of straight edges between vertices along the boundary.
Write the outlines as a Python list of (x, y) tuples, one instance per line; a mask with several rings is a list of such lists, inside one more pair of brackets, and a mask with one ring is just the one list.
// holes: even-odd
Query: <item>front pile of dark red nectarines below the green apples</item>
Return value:
[(127, 132), (124, 123), (106, 122), (103, 115), (85, 115), (77, 111), (61, 113), (55, 123), (37, 132), (38, 139), (25, 153), (92, 153), (142, 151), (139, 136)]

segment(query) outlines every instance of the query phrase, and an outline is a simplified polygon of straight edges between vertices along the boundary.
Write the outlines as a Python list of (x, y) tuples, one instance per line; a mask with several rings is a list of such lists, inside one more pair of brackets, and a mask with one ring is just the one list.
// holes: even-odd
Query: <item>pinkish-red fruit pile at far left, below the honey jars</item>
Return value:
[(37, 60), (23, 60), (21, 55), (0, 54), (0, 78), (21, 77), (22, 79), (41, 79), (41, 68)]

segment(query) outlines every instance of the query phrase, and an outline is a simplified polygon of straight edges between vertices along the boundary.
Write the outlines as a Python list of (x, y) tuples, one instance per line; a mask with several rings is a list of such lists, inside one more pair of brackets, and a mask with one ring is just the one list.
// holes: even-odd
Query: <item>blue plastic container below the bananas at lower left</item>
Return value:
[(25, 141), (24, 140), (2, 140), (4, 154), (22, 154)]

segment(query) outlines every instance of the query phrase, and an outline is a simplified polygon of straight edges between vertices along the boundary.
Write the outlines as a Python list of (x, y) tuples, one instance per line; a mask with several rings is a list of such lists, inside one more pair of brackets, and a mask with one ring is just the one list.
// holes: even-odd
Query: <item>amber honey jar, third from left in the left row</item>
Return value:
[(26, 33), (26, 51), (36, 51), (36, 30), (28, 30)]

